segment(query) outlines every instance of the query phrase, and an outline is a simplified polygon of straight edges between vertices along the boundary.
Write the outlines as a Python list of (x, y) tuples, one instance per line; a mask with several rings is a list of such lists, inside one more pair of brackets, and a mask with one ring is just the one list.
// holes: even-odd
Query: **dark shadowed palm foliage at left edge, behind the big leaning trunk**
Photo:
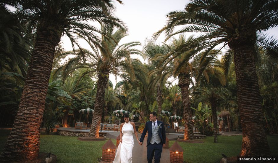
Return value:
[(0, 15), (0, 72), (21, 73), (26, 77), (31, 43), (27, 40), (27, 34), (23, 35), (25, 28), (2, 3)]

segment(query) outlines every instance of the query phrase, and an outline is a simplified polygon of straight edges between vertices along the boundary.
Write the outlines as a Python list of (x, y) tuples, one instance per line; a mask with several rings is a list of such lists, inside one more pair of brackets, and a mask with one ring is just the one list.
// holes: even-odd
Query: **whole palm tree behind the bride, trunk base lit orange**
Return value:
[[(121, 76), (123, 79), (127, 79), (127, 77), (130, 76), (130, 79), (134, 80), (135, 70), (133, 65), (137, 67), (136, 65), (138, 65), (140, 61), (132, 59), (130, 56), (142, 55), (140, 50), (133, 48), (134, 46), (141, 45), (140, 42), (119, 44), (119, 41), (127, 36), (126, 30), (122, 28), (114, 28), (109, 24), (103, 24), (101, 29), (106, 33), (106, 36), (101, 37), (101, 42), (99, 44), (84, 37), (84, 39), (90, 44), (93, 52), (85, 49), (78, 49), (75, 53), (75, 57), (71, 58), (67, 63), (55, 70), (55, 73), (62, 71), (63, 76), (67, 76), (78, 68), (87, 69), (83, 75), (97, 73), (96, 103), (94, 105), (95, 112), (92, 119), (92, 124), (94, 125), (91, 125), (89, 132), (89, 136), (95, 138), (99, 137), (98, 124), (101, 123), (104, 94), (109, 74)], [(71, 54), (71, 52), (67, 52), (67, 54)]]

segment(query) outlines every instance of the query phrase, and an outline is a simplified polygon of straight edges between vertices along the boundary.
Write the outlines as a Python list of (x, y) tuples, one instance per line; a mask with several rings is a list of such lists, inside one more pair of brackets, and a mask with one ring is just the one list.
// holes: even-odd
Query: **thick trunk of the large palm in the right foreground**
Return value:
[(254, 42), (246, 40), (229, 44), (234, 50), (237, 99), (243, 131), (241, 156), (270, 155), (263, 126), (264, 117), (253, 57)]

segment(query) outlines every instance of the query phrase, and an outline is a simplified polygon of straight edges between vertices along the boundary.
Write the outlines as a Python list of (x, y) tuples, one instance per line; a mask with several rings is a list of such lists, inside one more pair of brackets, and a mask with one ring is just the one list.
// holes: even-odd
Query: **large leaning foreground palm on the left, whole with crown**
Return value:
[(33, 160), (39, 154), (40, 126), (48, 81), (55, 47), (61, 36), (69, 36), (72, 44), (79, 46), (74, 37), (76, 34), (85, 35), (93, 42), (98, 41), (96, 33), (104, 34), (89, 21), (124, 27), (118, 18), (111, 15), (115, 4), (108, 0), (3, 0), (1, 3), (15, 7), (20, 20), (29, 23), (36, 31), (20, 106), (1, 159)]

